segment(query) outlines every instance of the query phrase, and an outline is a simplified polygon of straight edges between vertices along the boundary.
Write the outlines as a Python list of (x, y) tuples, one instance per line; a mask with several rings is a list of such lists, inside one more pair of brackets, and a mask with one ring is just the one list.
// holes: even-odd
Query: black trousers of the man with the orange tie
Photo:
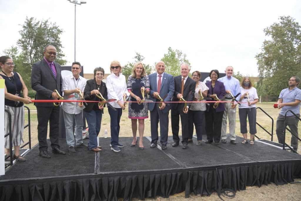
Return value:
[(176, 108), (171, 109), (171, 128), (172, 128), (172, 138), (174, 142), (179, 142), (179, 123), (181, 117), (181, 125), (182, 125), (182, 143), (188, 143), (188, 110), (187, 114), (183, 112), (184, 104), (178, 104)]

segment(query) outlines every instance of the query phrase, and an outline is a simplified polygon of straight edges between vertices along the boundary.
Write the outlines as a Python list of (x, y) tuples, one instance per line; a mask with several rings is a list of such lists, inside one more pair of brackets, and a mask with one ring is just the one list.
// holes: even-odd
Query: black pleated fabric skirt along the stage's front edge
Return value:
[(223, 188), (237, 191), (271, 182), (283, 185), (293, 181), (294, 176), (301, 176), (299, 161), (8, 181), (0, 182), (0, 200), (144, 200), (183, 191), (188, 198), (190, 193), (220, 194)]

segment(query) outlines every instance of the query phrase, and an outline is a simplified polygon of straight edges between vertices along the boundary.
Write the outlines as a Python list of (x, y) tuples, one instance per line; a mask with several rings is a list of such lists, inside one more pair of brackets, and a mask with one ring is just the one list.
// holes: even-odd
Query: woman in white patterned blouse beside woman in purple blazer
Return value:
[[(194, 71), (192, 73), (192, 79), (195, 81), (195, 93), (194, 100), (200, 98), (199, 91), (201, 91), (203, 97), (207, 97), (207, 92), (209, 88), (205, 83), (201, 82), (201, 73), (199, 71)], [(204, 100), (205, 101), (205, 100)], [(197, 146), (202, 144), (202, 130), (203, 130), (203, 118), (206, 111), (205, 103), (194, 103), (190, 106), (188, 114), (188, 143), (192, 143), (193, 135), (193, 124), (195, 126), (195, 131), (197, 133)]]

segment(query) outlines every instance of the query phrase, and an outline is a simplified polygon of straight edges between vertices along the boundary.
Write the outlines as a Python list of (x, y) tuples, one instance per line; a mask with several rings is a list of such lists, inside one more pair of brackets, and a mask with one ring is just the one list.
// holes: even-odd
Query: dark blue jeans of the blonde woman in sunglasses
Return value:
[(122, 115), (122, 109), (121, 108), (115, 108), (113, 110), (112, 108), (108, 107), (108, 111), (111, 118), (111, 145), (112, 147), (116, 147), (119, 142), (119, 130), (120, 130), (120, 118)]

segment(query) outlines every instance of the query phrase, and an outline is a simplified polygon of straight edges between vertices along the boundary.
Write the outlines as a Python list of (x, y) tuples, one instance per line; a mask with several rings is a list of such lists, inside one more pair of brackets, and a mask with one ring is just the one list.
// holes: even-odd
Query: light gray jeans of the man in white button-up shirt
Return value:
[[(73, 117), (75, 118), (75, 136), (76, 141), (74, 141), (73, 135)], [(68, 146), (80, 145), (82, 144), (82, 112), (79, 114), (69, 114), (64, 111), (64, 120), (66, 128), (66, 141)]]

